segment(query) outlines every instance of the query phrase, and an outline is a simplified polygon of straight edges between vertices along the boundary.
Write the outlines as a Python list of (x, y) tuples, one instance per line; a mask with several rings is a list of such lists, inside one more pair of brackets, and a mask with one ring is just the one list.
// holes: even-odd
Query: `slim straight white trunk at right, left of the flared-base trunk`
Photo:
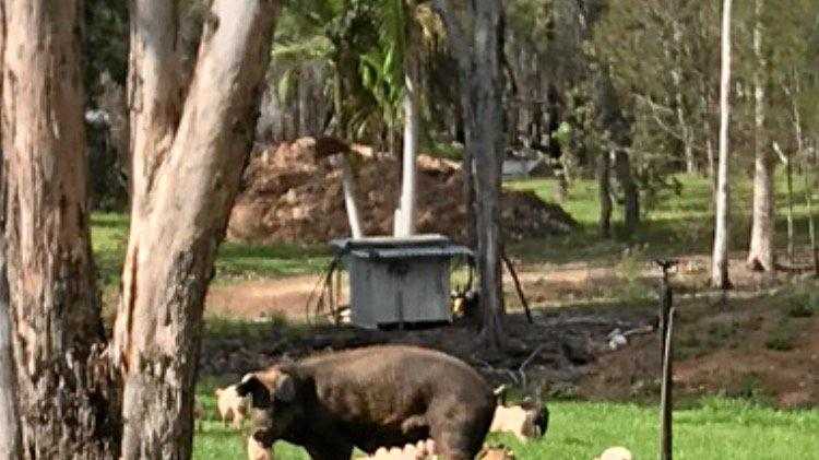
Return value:
[(728, 120), (731, 106), (731, 2), (723, 0), (722, 69), (720, 78), (720, 165), (716, 177), (716, 217), (711, 266), (711, 283), (729, 288), (728, 280)]

